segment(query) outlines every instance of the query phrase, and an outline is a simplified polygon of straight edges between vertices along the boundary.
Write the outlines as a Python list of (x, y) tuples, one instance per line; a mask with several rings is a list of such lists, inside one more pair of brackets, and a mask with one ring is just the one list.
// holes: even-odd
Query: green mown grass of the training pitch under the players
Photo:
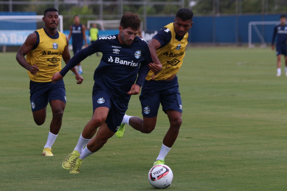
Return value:
[[(287, 77), (275, 77), (274, 55), (269, 48), (188, 48), (178, 73), (183, 123), (165, 158), (174, 174), (166, 190), (287, 189)], [(126, 126), (123, 138), (85, 159), (80, 174), (61, 169), (92, 116), (99, 57), (82, 62), (83, 84), (70, 72), (64, 78), (67, 106), (53, 157), (41, 155), (50, 107), (37, 126), (27, 71), (15, 53), (0, 53), (0, 60), (0, 190), (155, 190), (147, 174), (169, 127), (162, 111), (151, 134)], [(127, 114), (141, 116), (138, 95)]]

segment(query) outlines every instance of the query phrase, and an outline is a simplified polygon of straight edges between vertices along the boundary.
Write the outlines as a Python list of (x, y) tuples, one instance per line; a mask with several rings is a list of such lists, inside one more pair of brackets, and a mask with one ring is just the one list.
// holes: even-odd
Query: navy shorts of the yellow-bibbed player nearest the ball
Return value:
[(145, 80), (139, 96), (143, 116), (157, 116), (160, 103), (162, 111), (165, 113), (168, 109), (182, 113), (182, 102), (178, 88), (177, 76), (170, 81)]

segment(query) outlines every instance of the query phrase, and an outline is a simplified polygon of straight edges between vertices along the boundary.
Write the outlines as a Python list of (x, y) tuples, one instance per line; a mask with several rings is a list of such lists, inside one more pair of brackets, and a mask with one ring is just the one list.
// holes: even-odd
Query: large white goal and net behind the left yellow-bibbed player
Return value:
[[(27, 36), (45, 27), (43, 15), (0, 16), (0, 51), (17, 51)], [(63, 16), (59, 15), (58, 30), (63, 32)]]

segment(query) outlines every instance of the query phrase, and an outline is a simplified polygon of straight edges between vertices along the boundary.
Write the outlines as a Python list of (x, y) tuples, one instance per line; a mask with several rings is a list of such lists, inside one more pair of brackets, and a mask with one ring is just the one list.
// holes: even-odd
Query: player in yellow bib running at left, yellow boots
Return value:
[[(62, 125), (63, 112), (66, 106), (66, 92), (63, 80), (52, 84), (51, 78), (61, 70), (62, 57), (65, 63), (68, 63), (71, 56), (68, 49), (68, 38), (57, 31), (58, 10), (55, 8), (46, 9), (42, 20), (45, 22), (45, 28), (29, 34), (18, 50), (16, 59), (22, 67), (28, 70), (30, 103), (37, 125), (42, 125), (45, 122), (47, 105), (50, 102), (53, 118), (42, 154), (53, 156), (51, 147)], [(27, 55), (26, 59), (25, 55)], [(76, 74), (77, 83), (81, 84), (83, 77), (76, 68), (71, 68), (71, 70)]]

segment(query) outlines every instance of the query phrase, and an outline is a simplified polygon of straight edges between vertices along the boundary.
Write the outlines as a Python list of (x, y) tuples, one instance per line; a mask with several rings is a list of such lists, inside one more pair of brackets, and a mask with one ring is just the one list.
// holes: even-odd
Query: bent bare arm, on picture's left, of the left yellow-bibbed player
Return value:
[(25, 55), (28, 54), (33, 49), (36, 43), (37, 43), (36, 33), (29, 34), (24, 44), (22, 44), (22, 46), (20, 47), (20, 49), (18, 50), (16, 54), (16, 60), (18, 61), (18, 63), (23, 68), (29, 70), (31, 74), (37, 74), (37, 72), (39, 71), (39, 68), (36, 64), (33, 66), (29, 65), (29, 63), (25, 59)]

